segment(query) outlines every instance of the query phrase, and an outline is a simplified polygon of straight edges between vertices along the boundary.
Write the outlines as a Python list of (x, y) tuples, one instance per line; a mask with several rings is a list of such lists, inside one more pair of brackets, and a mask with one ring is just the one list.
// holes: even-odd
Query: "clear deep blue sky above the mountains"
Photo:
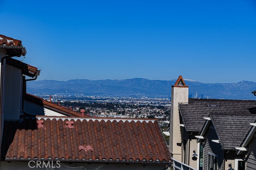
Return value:
[[(256, 82), (255, 0), (0, 0), (38, 80)], [(20, 58), (21, 60), (22, 58)]]

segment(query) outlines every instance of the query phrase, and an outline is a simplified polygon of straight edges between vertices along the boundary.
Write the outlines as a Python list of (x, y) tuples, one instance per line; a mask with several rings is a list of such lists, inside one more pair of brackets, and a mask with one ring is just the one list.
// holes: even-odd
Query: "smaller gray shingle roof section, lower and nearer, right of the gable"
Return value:
[(224, 149), (240, 147), (256, 115), (211, 113), (209, 116)]

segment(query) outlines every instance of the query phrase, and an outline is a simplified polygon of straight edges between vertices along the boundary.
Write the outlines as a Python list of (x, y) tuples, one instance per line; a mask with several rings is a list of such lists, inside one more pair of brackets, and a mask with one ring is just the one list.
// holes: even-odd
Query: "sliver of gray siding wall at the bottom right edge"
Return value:
[(246, 170), (256, 170), (256, 137), (253, 137), (249, 144), (249, 151), (246, 155)]

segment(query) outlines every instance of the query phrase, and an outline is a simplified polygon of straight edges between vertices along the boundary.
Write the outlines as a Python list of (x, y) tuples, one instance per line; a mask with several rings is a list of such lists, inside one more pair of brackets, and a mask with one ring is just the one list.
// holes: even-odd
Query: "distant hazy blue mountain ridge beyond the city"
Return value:
[[(256, 90), (256, 82), (240, 81), (238, 83), (202, 83), (184, 79), (189, 86), (189, 94), (204, 94), (208, 98), (256, 100), (251, 92)], [(150, 97), (168, 98), (171, 86), (176, 80), (148, 80), (132, 78), (125, 80), (87, 80), (67, 81), (39, 80), (27, 84), (27, 92), (35, 95), (56, 94), (70, 96), (113, 96), (113, 97)]]

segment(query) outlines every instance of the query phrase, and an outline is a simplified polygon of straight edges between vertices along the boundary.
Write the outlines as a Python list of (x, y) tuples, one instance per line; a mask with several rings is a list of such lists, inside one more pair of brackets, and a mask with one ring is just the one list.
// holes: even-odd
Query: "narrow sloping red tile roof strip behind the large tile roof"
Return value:
[[(51, 109), (51, 110), (54, 110), (54, 111), (62, 111), (64, 113), (67, 113), (67, 115), (73, 115), (73, 116), (81, 117), (81, 113), (79, 111), (74, 111), (70, 108), (63, 107), (63, 106), (60, 106), (60, 105), (52, 103), (52, 102), (48, 102), (48, 101), (46, 101), (42, 98), (39, 98), (37, 96), (34, 96), (32, 94), (27, 93), (24, 98), (26, 100), (30, 101), (30, 102), (43, 104), (43, 106), (48, 108), (48, 109)], [(89, 116), (85, 115), (84, 117), (89, 117)]]

